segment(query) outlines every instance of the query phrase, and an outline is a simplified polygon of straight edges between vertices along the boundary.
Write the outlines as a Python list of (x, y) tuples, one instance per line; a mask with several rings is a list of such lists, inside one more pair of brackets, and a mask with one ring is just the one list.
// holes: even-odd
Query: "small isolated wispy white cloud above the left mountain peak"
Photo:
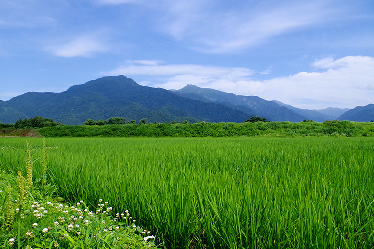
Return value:
[(50, 45), (45, 48), (46, 51), (59, 57), (90, 57), (108, 49), (102, 39), (94, 35), (81, 35), (66, 43)]

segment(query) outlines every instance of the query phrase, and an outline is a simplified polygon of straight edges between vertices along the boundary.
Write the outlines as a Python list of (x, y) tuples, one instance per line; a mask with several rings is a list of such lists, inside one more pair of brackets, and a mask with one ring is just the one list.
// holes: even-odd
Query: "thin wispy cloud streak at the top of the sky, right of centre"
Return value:
[(169, 7), (162, 18), (162, 31), (211, 53), (238, 52), (272, 37), (328, 22), (339, 12), (339, 7), (331, 8), (329, 1), (322, 0), (233, 3), (229, 9), (209, 0), (166, 2)]

